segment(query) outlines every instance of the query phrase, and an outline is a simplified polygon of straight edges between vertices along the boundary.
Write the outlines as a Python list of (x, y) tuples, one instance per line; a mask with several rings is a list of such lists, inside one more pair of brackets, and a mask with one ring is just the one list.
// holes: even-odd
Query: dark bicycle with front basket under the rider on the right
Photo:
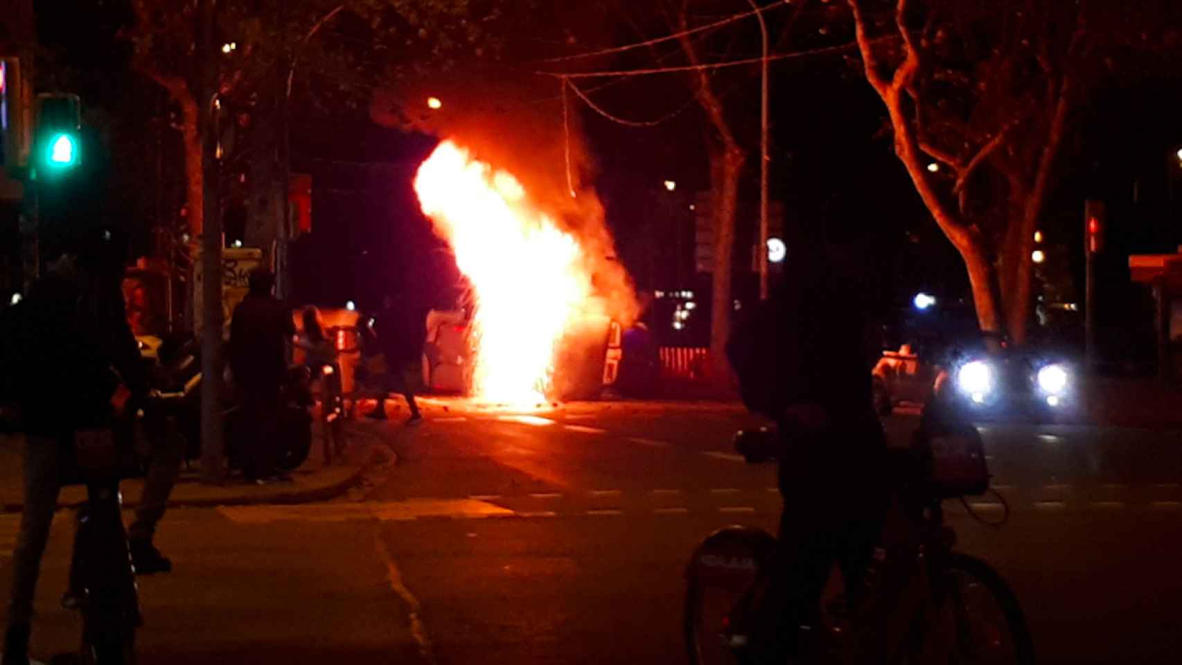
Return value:
[[(794, 663), (1033, 664), (1033, 640), (1014, 593), (986, 562), (954, 552), (956, 534), (944, 523), (944, 498), (963, 502), (987, 490), (980, 435), (921, 428), (911, 449), (888, 456), (901, 482), (891, 491), (881, 545), (857, 589), (834, 593), (831, 580), (813, 625), (800, 627), (807, 651)], [(985, 523), (1000, 526), (1005, 516)], [(760, 601), (775, 547), (762, 529), (727, 527), (694, 552), (684, 607), (691, 665), (742, 661), (749, 647), (743, 625), (767, 611)]]

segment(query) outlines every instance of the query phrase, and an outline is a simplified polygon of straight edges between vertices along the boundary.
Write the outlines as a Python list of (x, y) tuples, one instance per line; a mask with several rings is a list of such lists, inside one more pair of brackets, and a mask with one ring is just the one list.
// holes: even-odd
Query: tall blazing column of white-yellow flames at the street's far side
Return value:
[(512, 174), (452, 141), (418, 168), (415, 193), (475, 291), (473, 396), (545, 400), (556, 347), (591, 296), (579, 242), (533, 207)]

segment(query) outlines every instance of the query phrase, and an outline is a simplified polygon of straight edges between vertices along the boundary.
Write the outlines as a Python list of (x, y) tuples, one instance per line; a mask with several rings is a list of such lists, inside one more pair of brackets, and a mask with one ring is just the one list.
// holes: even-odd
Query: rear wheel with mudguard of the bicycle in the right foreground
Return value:
[(738, 663), (733, 640), (745, 630), (734, 624), (742, 620), (743, 609), (754, 609), (751, 595), (774, 546), (771, 534), (732, 527), (708, 537), (694, 553), (686, 574), (683, 618), (690, 665)]

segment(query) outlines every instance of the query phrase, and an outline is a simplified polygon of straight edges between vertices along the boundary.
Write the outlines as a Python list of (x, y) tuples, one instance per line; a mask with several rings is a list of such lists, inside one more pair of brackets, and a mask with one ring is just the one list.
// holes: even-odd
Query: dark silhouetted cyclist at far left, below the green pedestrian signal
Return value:
[[(126, 240), (117, 228), (87, 232), (33, 285), (17, 313), (12, 339), (5, 340), (15, 350), (15, 371), (22, 387), (19, 408), (25, 432), (25, 509), (13, 550), (4, 665), (25, 665), (28, 659), (41, 555), (63, 469), (74, 454), (76, 432), (112, 428), (126, 404), (148, 393), (147, 370), (126, 321), (119, 287), (125, 260)], [(169, 481), (164, 501), (170, 489)], [(150, 543), (155, 521), (163, 515), (163, 504), (158, 508), (139, 516), (151, 524), (138, 529), (149, 539), (141, 543), (138, 554), (149, 554), (147, 546), (156, 560), (163, 560)]]

